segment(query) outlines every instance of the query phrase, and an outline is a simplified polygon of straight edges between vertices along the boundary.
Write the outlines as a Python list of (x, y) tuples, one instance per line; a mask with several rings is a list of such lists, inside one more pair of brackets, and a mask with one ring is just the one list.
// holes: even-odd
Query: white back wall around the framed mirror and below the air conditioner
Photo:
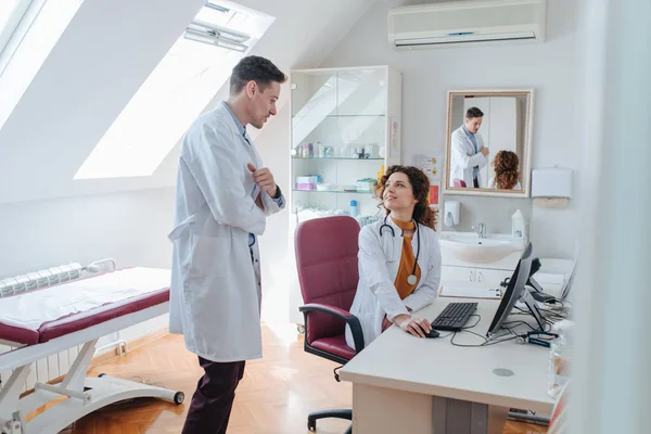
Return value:
[[(387, 41), (387, 10), (397, 3), (372, 8), (320, 66), (390, 64), (403, 72), (404, 163), (417, 153), (444, 150), (447, 90), (533, 87), (533, 167), (558, 164), (577, 168), (578, 145), (572, 136), (576, 129), (576, 0), (549, 0), (545, 43), (411, 51), (396, 51)], [(520, 201), (494, 199), (492, 208), (513, 209)], [(538, 255), (572, 257), (578, 203), (579, 199), (574, 199), (566, 209), (533, 208), (531, 239)], [(500, 218), (510, 218), (503, 214)]]

